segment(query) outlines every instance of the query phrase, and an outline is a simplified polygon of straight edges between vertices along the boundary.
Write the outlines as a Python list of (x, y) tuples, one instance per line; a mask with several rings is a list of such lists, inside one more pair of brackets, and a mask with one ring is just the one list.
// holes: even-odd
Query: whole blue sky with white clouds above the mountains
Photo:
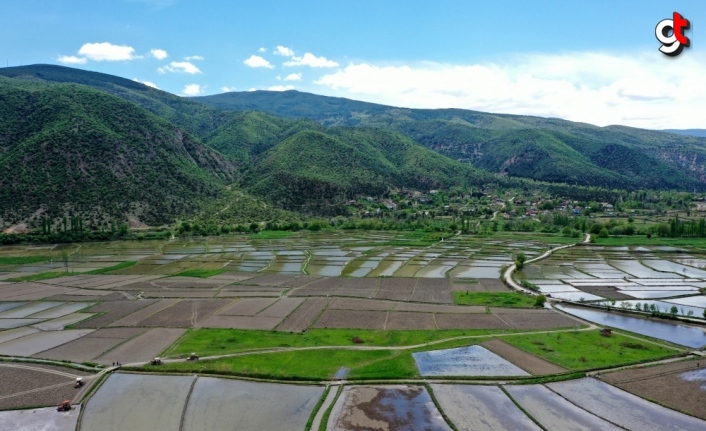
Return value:
[[(4, 3), (3, 66), (64, 64), (180, 95), (293, 88), (404, 107), (706, 128), (703, 1)], [(654, 28), (673, 11), (691, 20), (692, 46), (669, 58)]]

